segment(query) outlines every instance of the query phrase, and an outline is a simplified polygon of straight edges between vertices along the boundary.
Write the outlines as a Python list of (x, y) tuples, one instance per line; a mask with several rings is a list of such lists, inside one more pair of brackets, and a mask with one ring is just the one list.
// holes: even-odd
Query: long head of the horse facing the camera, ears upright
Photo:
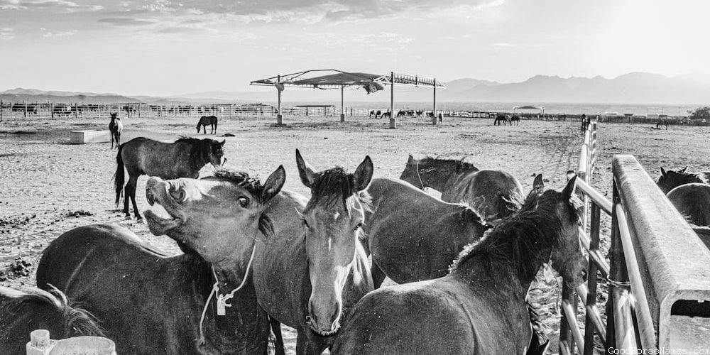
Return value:
[[(337, 332), (343, 313), (343, 288), (362, 250), (359, 236), (365, 219), (372, 179), (369, 156), (355, 170), (315, 172), (296, 150), (298, 173), (310, 187), (311, 199), (302, 213), (311, 295), (307, 323), (321, 335)], [(364, 256), (364, 254), (363, 254)]]

